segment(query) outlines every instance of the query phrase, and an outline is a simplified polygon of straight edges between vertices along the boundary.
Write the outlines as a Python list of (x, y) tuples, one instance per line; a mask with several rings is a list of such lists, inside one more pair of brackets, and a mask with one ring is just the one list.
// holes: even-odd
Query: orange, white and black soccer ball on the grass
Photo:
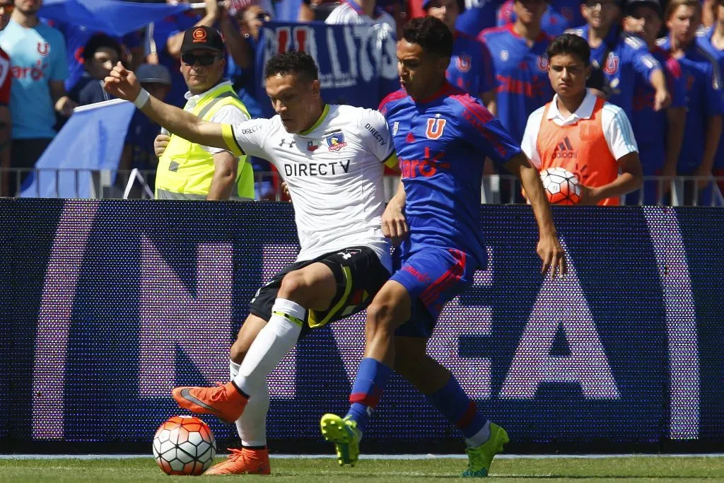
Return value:
[(153, 437), (153, 457), (166, 474), (202, 474), (216, 455), (209, 425), (193, 416), (174, 416)]

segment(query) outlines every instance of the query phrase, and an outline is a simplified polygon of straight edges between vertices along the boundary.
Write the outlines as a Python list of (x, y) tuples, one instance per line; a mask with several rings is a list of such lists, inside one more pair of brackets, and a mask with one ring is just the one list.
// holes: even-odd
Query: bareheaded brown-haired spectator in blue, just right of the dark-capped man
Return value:
[(721, 71), (713, 54), (696, 42), (696, 29), (702, 17), (698, 0), (670, 0), (665, 19), (669, 36), (660, 46), (681, 64), (686, 75), (686, 129), (676, 172), (698, 176), (701, 181), (684, 184), (684, 203), (710, 204), (714, 157), (722, 134)]

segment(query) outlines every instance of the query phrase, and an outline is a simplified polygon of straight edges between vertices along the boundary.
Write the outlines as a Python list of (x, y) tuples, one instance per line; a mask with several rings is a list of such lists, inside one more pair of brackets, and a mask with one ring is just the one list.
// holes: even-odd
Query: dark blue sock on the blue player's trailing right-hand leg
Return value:
[(478, 411), (473, 400), (468, 398), (452, 374), (442, 389), (427, 395), (427, 398), (466, 438), (478, 434), (487, 423), (487, 419)]

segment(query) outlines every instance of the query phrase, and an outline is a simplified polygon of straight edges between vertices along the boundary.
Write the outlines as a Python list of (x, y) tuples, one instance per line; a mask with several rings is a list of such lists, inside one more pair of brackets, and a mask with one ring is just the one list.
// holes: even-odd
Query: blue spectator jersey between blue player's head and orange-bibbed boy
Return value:
[(479, 40), (488, 46), (495, 65), (498, 119), (520, 143), (528, 117), (553, 98), (546, 55), (551, 39), (541, 32), (529, 47), (510, 24), (484, 30)]

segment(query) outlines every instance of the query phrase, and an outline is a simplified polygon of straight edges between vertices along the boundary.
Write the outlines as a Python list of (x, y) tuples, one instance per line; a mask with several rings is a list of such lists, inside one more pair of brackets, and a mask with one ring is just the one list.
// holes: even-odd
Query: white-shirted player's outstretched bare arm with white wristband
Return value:
[(117, 98), (131, 101), (138, 107), (143, 98), (147, 100), (139, 109), (149, 119), (165, 127), (169, 132), (181, 136), (192, 143), (216, 148), (227, 148), (222, 135), (222, 125), (205, 122), (190, 112), (185, 112), (169, 104), (165, 104), (153, 96), (148, 96), (141, 88), (135, 74), (127, 70), (119, 62), (104, 82), (105, 90)]

